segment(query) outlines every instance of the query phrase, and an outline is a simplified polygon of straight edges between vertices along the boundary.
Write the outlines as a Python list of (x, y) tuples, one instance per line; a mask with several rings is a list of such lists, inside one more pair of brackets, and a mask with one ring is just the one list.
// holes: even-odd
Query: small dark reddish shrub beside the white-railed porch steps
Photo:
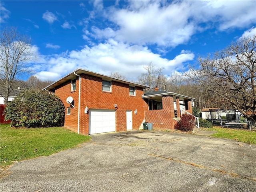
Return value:
[(181, 131), (192, 131), (194, 128), (194, 117), (189, 114), (180, 116), (180, 121), (175, 125), (175, 129)]

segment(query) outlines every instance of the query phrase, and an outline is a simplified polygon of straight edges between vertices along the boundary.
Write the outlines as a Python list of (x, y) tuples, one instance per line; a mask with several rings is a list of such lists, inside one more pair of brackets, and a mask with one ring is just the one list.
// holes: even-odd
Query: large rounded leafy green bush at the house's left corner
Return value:
[(63, 126), (65, 107), (60, 98), (47, 91), (27, 89), (8, 102), (5, 119), (14, 127)]

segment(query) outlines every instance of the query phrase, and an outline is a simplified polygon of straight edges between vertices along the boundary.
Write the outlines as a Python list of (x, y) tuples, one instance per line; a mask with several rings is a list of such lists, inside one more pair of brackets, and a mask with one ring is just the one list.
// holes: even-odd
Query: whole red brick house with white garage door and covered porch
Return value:
[(179, 100), (184, 100), (192, 114), (193, 98), (162, 91), (144, 94), (145, 88), (149, 87), (78, 68), (44, 90), (64, 103), (64, 126), (85, 135), (138, 130), (143, 122), (154, 123), (154, 130), (173, 129), (174, 100), (178, 110)]

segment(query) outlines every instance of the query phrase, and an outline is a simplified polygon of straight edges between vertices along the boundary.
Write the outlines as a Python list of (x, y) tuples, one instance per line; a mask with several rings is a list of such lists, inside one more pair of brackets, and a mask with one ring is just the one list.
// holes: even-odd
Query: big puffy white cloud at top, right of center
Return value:
[(117, 40), (175, 47), (186, 43), (196, 30), (187, 21), (184, 3), (162, 6), (159, 2), (134, 1), (131, 8), (134, 9), (115, 10), (109, 16), (120, 26), (116, 30)]

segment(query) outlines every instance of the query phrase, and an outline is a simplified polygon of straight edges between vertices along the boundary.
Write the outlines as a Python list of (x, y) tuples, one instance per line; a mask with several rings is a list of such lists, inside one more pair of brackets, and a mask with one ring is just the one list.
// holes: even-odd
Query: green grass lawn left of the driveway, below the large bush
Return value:
[(0, 126), (1, 166), (13, 162), (48, 156), (73, 148), (90, 140), (90, 136), (80, 135), (63, 127), (11, 128), (9, 124)]

